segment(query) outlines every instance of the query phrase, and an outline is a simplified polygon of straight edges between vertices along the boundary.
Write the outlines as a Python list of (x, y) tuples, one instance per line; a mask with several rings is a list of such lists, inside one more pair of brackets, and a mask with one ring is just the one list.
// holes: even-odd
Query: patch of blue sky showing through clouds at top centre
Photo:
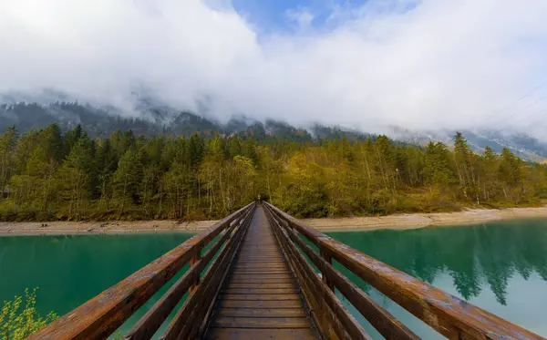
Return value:
[(291, 32), (295, 29), (291, 12), (306, 11), (314, 15), (312, 26), (321, 29), (335, 8), (352, 9), (366, 0), (232, 0), (235, 10), (244, 15), (260, 33)]

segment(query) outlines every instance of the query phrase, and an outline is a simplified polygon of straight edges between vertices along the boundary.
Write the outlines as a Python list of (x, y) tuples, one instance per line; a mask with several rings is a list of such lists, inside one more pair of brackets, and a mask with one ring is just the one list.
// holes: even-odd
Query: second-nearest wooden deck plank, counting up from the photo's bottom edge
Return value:
[(277, 328), (298, 329), (311, 328), (306, 317), (233, 317), (220, 316), (214, 319), (211, 327), (224, 328)]

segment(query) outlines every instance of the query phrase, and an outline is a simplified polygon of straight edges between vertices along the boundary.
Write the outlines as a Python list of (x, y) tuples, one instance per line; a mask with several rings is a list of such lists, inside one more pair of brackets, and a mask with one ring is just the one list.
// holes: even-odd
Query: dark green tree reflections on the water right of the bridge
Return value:
[[(478, 296), (483, 283), (488, 283), (496, 300), (505, 305), (513, 275), (528, 280), (536, 272), (547, 281), (546, 223), (527, 224), (330, 235), (428, 283), (433, 283), (439, 273), (448, 272), (466, 300)], [(363, 288), (369, 289), (366, 285)]]

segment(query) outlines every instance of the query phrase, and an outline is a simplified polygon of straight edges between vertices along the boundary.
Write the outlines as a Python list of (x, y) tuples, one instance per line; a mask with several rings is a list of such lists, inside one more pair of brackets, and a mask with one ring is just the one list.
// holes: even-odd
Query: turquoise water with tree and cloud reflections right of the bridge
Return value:
[[(547, 221), (329, 234), (490, 313), (547, 335), (543, 316), (547, 304)], [(442, 338), (339, 263), (335, 266), (419, 336)], [(382, 338), (346, 299), (342, 300), (373, 338)]]

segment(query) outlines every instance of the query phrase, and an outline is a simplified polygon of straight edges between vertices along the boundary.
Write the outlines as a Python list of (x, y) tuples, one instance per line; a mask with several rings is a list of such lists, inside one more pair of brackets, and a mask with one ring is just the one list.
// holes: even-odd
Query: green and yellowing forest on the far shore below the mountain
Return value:
[(511, 150), (386, 136), (304, 141), (253, 130), (90, 138), (57, 124), (0, 135), (0, 220), (217, 219), (260, 195), (297, 217), (534, 206), (547, 167)]

